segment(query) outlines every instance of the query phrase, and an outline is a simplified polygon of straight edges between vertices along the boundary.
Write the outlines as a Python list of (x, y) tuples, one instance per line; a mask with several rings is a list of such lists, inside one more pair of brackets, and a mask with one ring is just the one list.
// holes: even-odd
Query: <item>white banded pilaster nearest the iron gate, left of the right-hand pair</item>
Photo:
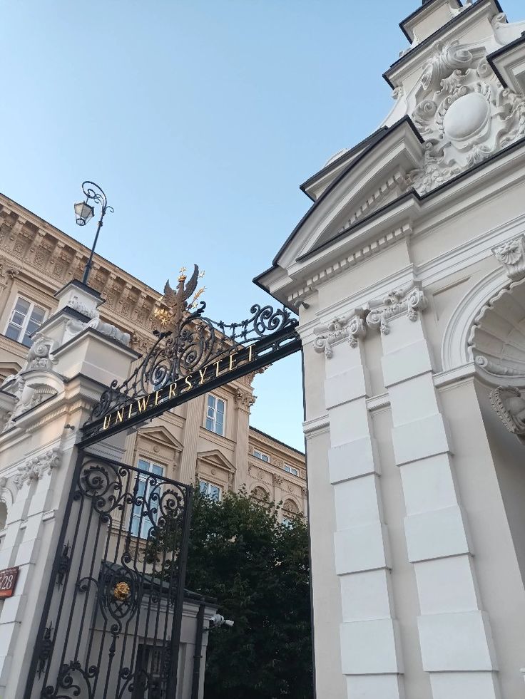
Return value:
[(357, 336), (350, 333), (349, 338), (330, 338), (330, 351), (325, 351), (342, 672), (349, 699), (401, 699), (403, 667), (390, 591), (381, 469), (366, 405), (367, 367)]

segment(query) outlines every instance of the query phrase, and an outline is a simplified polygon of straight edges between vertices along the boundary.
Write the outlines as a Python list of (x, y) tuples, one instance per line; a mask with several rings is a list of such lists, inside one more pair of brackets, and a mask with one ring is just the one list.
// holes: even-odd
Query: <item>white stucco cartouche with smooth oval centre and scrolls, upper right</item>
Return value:
[(499, 83), (484, 47), (434, 43), (412, 120), (426, 139), (407, 182), (425, 194), (525, 135), (525, 95)]

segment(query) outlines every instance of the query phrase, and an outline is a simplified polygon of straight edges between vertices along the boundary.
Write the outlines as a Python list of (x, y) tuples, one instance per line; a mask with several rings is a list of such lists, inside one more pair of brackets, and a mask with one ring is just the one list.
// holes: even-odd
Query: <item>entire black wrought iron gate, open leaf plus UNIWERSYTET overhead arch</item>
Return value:
[(166, 284), (163, 330), (82, 427), (24, 699), (175, 699), (192, 489), (83, 450), (300, 351), (288, 309), (203, 316), (199, 277)]

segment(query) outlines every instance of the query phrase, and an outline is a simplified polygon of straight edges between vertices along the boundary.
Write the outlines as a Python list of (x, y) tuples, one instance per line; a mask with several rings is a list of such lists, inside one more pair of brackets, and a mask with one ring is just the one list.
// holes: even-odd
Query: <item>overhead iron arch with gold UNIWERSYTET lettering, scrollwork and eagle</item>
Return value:
[(202, 290), (190, 299), (199, 276), (195, 265), (189, 281), (181, 271), (176, 291), (166, 282), (156, 341), (131, 376), (103, 391), (83, 425), (84, 447), (300, 351), (297, 319), (284, 306), (253, 304), (235, 323), (206, 317)]

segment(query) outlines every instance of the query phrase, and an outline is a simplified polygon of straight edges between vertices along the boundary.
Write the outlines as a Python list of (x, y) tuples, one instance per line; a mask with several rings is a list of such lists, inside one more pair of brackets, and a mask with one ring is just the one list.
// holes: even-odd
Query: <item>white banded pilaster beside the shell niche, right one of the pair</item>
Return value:
[[(370, 325), (376, 319), (371, 317)], [(408, 313), (377, 327), (407, 513), (407, 551), (417, 580), (423, 669), (434, 699), (496, 699), (489, 620), (479, 601), (452, 445), (434, 388), (422, 319), (409, 306)]]

